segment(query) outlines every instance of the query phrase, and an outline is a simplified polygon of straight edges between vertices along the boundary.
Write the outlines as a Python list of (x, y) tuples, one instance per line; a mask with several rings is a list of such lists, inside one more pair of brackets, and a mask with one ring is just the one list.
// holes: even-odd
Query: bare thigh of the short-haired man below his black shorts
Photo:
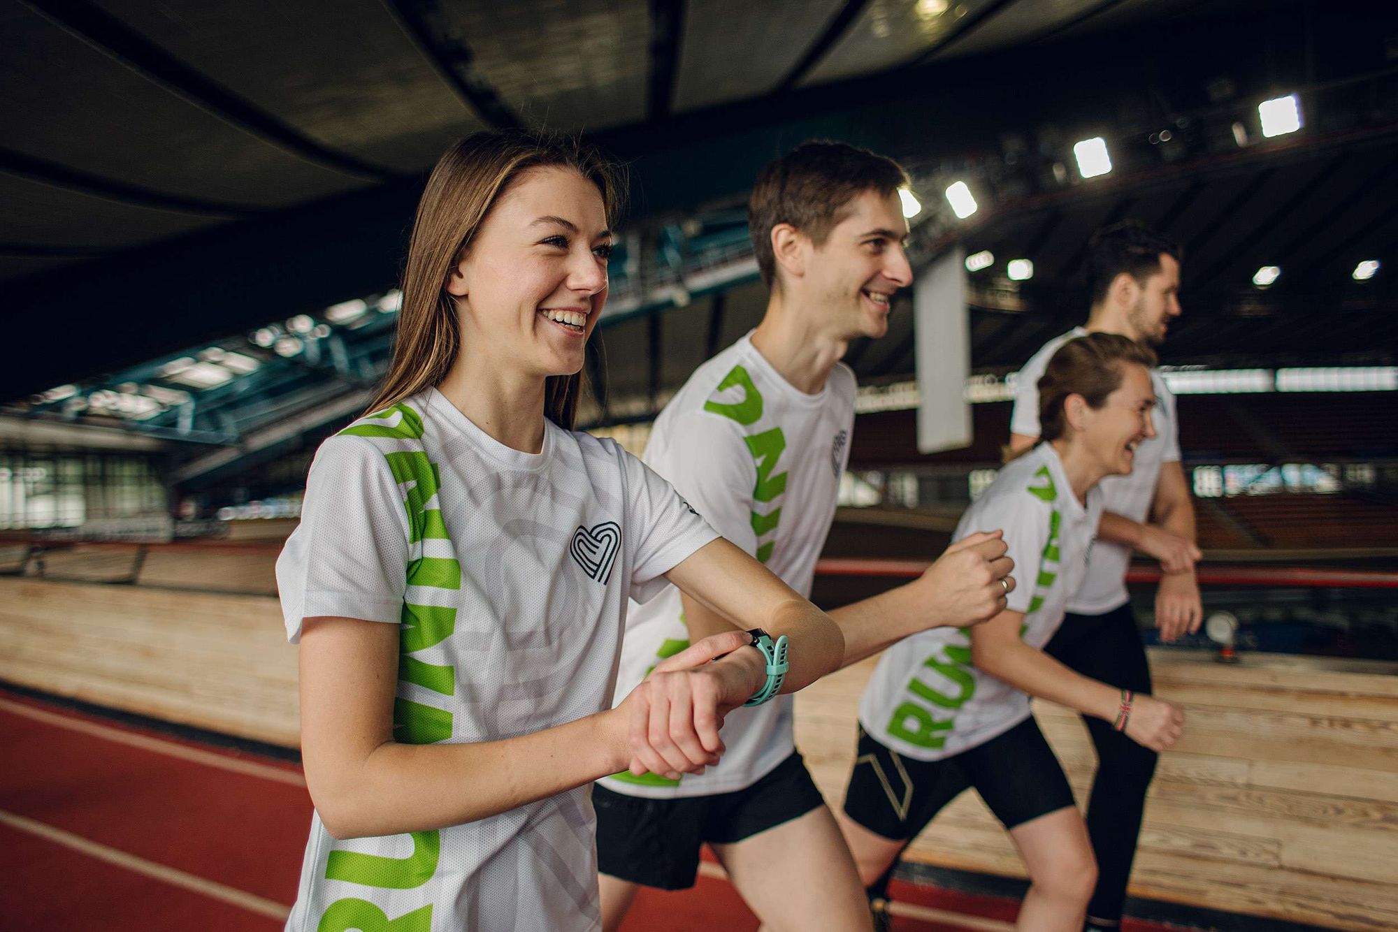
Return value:
[(765, 929), (844, 932), (868, 926), (864, 884), (825, 805), (713, 850)]

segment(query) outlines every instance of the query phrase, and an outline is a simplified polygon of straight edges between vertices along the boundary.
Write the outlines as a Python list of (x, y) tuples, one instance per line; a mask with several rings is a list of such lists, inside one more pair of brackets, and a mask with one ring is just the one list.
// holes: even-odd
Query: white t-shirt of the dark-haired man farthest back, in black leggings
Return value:
[[(1039, 379), (1044, 374), (1048, 361), (1058, 347), (1075, 337), (1086, 337), (1088, 331), (1074, 327), (1061, 337), (1046, 342), (1023, 369), (1019, 370), (1015, 386), (1015, 411), (1009, 418), (1009, 429), (1028, 437), (1039, 436)], [(1155, 488), (1160, 479), (1160, 464), (1180, 461), (1180, 425), (1174, 415), (1174, 395), (1165, 379), (1151, 370), (1151, 384), (1155, 387), (1156, 405), (1151, 411), (1155, 436), (1137, 447), (1128, 475), (1109, 475), (1102, 481), (1103, 507), (1113, 514), (1145, 521), (1151, 516)], [(1131, 598), (1127, 592), (1127, 567), (1131, 565), (1131, 548), (1110, 541), (1099, 541), (1088, 565), (1088, 578), (1082, 588), (1068, 601), (1068, 611), (1081, 615), (1104, 615), (1125, 605)]]

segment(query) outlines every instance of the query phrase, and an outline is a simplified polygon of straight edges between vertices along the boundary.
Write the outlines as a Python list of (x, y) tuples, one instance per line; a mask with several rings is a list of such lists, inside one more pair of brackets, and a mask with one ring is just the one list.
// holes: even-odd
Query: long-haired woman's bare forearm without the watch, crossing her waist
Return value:
[(605, 711), (519, 738), (459, 745), (387, 741), (361, 760), (308, 760), (312, 798), (337, 838), (429, 831), (507, 812), (624, 770)]

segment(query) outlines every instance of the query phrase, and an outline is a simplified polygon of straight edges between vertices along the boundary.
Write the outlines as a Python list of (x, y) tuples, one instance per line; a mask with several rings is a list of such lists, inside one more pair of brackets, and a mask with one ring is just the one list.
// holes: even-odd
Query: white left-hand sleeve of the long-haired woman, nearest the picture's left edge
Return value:
[(306, 618), (397, 623), (407, 587), (408, 523), (383, 453), (362, 437), (326, 440), (310, 465), (301, 525), (277, 559), (287, 636)]

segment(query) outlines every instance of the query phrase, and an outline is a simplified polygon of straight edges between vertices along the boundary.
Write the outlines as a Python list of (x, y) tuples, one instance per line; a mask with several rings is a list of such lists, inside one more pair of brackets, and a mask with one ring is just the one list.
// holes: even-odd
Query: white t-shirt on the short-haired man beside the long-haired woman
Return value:
[[(854, 429), (854, 373), (837, 363), (816, 394), (793, 387), (748, 334), (699, 366), (656, 419), (644, 460), (720, 534), (762, 560), (801, 595), (835, 520)], [(617, 696), (689, 643), (674, 585), (626, 620)], [(607, 777), (630, 796), (707, 796), (745, 789), (795, 749), (791, 696), (737, 708), (723, 725), (727, 750), (703, 774)]]

